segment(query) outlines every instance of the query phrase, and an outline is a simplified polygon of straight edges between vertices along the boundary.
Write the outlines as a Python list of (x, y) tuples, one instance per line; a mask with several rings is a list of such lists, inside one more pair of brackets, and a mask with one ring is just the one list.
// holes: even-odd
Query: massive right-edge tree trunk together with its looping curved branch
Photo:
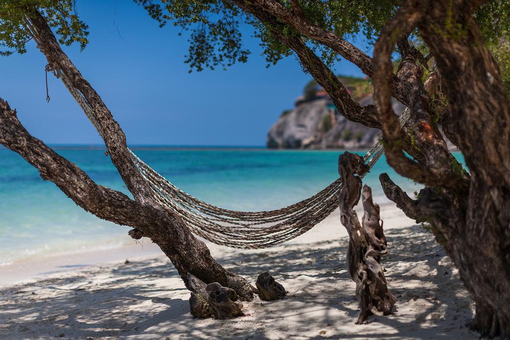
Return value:
[[(380, 66), (376, 70), (380, 74), (374, 74), (374, 97), (385, 141), (395, 146), (398, 140), (393, 137), (397, 135), (392, 136), (391, 131), (398, 130), (398, 126), (390, 126), (385, 119), (391, 116), (385, 107), (389, 97), (385, 76), (389, 79), (392, 51), (387, 47), (394, 45), (392, 39), (402, 30), (417, 26), (442, 75), (442, 87), (448, 99), (444, 121), (450, 125), (449, 132), (465, 156), (470, 176), (452, 165), (451, 172), (431, 173), (437, 178), (436, 185), (423, 181), (429, 188), (420, 192), (416, 201), (395, 190), (388, 197), (400, 196), (395, 201), (410, 207), (409, 215), (430, 222), (436, 239), (458, 268), (476, 303), (472, 326), (482, 335), (507, 338), (510, 336), (510, 101), (498, 67), (481, 39), (470, 4), (463, 0), (408, 0), (402, 5), (374, 48), (374, 60)], [(428, 131), (416, 128), (414, 133), (418, 140), (430, 139)], [(387, 156), (390, 162), (388, 149)], [(411, 178), (414, 175), (411, 171), (400, 173)], [(452, 178), (452, 173), (459, 183), (469, 178), (468, 190), (455, 190), (453, 185), (445, 183), (444, 178)], [(387, 179), (381, 177), (381, 181)]]

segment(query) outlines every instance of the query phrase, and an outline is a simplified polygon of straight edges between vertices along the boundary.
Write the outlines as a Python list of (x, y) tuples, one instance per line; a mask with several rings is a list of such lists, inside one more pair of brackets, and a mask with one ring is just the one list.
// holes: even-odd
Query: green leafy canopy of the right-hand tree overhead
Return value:
[[(176, 27), (191, 31), (189, 54), (186, 56), (186, 63), (191, 69), (201, 71), (204, 68), (214, 69), (218, 65), (225, 68), (236, 62), (246, 62), (250, 51), (242, 44), (242, 32), (250, 32), (250, 28), (252, 35), (260, 39), (268, 66), (292, 55), (292, 50), (271, 33), (269, 23), (260, 22), (231, 2), (166, 0), (162, 5), (155, 0), (134, 1), (144, 7), (152, 18), (160, 22), (160, 25), (171, 21)], [(279, 0), (279, 3), (288, 9), (291, 8), (290, 0)], [(380, 30), (394, 16), (401, 4), (402, 0), (299, 1), (304, 15), (311, 23), (346, 39), (363, 37), (367, 45), (375, 43)], [(509, 15), (508, 0), (490, 0), (475, 12), (484, 40), (491, 50), (499, 51), (498, 61), (503, 69), (510, 69), (510, 61), (504, 58), (500, 46), (501, 40), (509, 40)], [(297, 32), (288, 25), (283, 27), (285, 35), (297, 35)], [(330, 66), (340, 59), (340, 56), (330, 48), (307, 37), (301, 38), (326, 65)], [(417, 32), (413, 34), (413, 38), (418, 45), (422, 44)], [(508, 76), (510, 79), (510, 74)]]

